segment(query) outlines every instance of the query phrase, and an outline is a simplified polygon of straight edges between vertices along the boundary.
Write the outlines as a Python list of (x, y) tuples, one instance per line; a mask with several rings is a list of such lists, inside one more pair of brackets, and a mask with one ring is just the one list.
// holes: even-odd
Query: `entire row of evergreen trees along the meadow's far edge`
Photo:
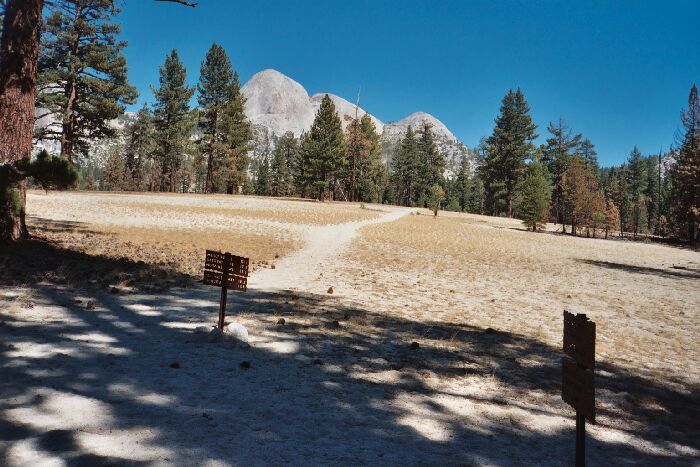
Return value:
[[(698, 240), (700, 218), (700, 104), (693, 86), (682, 114), (683, 134), (662, 170), (659, 157), (634, 148), (625, 164), (601, 168), (590, 140), (562, 119), (547, 127), (546, 143), (534, 144), (537, 125), (520, 89), (503, 98), (493, 133), (474, 163), (464, 157), (445, 174), (445, 157), (431, 128), (409, 128), (383, 163), (379, 135), (368, 115), (343, 131), (326, 96), (312, 127), (299, 138), (265, 135), (253, 144), (238, 74), (214, 44), (196, 87), (187, 85), (176, 51), (160, 67), (155, 102), (123, 130), (110, 124), (137, 93), (127, 82), (125, 43), (113, 23), (111, 0), (56, 0), (41, 39), (37, 140), (55, 140), (69, 162), (90, 160), (90, 142), (112, 139), (104, 166), (82, 164), (83, 185), (113, 190), (235, 193), (372, 201), (443, 207), (519, 217), (537, 230), (545, 222), (563, 232), (603, 229), (632, 236), (676, 235)], [(196, 108), (190, 107), (196, 93)], [(251, 157), (252, 156), (252, 157)], [(438, 190), (439, 188), (439, 190)]]

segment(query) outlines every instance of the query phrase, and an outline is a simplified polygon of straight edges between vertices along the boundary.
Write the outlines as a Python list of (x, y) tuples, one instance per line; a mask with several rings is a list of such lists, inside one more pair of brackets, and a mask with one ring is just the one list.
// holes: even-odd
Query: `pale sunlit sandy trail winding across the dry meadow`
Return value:
[(341, 256), (362, 227), (392, 222), (410, 212), (406, 208), (391, 208), (375, 219), (308, 227), (305, 246), (277, 261), (275, 269), (261, 269), (251, 274), (248, 287), (265, 291), (307, 291), (319, 272)]

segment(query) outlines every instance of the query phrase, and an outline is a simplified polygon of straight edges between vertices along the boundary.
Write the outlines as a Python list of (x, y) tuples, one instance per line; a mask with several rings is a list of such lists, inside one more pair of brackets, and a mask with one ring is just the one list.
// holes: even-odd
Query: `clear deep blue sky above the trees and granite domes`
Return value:
[[(198, 0), (196, 9), (125, 0), (129, 76), (152, 101), (165, 54), (197, 81), (212, 42), (242, 83), (274, 68), (309, 92), (354, 100), (383, 121), (422, 110), (468, 146), (490, 134), (500, 101), (521, 87), (540, 126), (560, 116), (604, 165), (634, 145), (674, 141), (700, 84), (700, 1)], [(136, 107), (136, 106), (135, 106)]]

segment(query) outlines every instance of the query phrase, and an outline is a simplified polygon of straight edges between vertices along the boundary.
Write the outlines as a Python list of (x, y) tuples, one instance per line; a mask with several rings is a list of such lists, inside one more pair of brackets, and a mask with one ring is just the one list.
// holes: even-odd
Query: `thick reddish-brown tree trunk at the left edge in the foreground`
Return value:
[(28, 236), (27, 183), (16, 166), (31, 157), (43, 6), (43, 0), (9, 0), (5, 6), (0, 40), (0, 240)]

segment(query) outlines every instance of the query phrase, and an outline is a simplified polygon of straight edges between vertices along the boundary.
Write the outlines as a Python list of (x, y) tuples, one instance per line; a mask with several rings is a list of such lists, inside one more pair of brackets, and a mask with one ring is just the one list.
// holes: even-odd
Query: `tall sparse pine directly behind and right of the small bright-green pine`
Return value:
[[(550, 122), (547, 131), (552, 135), (547, 138), (547, 144), (542, 148), (544, 161), (552, 174), (552, 209), (557, 223), (562, 225), (565, 231), (565, 223), (570, 216), (566, 206), (571, 203), (564, 199), (564, 174), (569, 168), (571, 159), (576, 154), (577, 149), (582, 144), (580, 134), (572, 134), (564, 121), (560, 118), (558, 124)], [(587, 149), (588, 150), (588, 149)], [(589, 155), (590, 156), (590, 155)], [(588, 162), (589, 159), (585, 159)]]

